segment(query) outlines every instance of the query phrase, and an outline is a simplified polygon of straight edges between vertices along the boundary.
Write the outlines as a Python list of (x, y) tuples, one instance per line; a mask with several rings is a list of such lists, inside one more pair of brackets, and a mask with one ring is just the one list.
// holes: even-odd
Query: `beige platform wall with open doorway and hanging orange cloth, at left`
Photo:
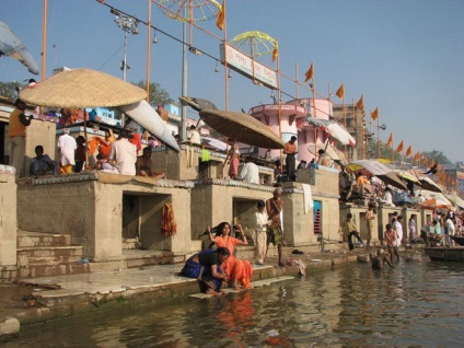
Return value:
[[(20, 229), (70, 234), (72, 244), (83, 246), (84, 257), (112, 259), (121, 256), (123, 217), (129, 209), (137, 209), (138, 237), (143, 248), (192, 252), (190, 186), (138, 178), (88, 173), (22, 179), (18, 209), (27, 213), (19, 214)], [(124, 206), (124, 197), (132, 197), (138, 204)], [(173, 236), (161, 234), (165, 202), (172, 204), (177, 223)]]

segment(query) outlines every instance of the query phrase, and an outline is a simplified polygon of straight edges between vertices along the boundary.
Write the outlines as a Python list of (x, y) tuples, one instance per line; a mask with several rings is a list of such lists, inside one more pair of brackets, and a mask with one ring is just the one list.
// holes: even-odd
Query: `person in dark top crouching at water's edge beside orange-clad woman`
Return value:
[(222, 272), (221, 265), (229, 256), (230, 252), (227, 247), (218, 247), (216, 251), (205, 250), (187, 259), (181, 275), (197, 278), (201, 292), (220, 295), (222, 282), (229, 280), (229, 277)]

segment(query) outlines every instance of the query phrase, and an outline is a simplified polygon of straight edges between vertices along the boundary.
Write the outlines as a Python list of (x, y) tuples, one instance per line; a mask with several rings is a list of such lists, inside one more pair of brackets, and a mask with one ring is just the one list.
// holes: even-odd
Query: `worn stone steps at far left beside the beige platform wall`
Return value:
[(18, 277), (48, 277), (89, 272), (82, 246), (71, 245), (69, 234), (18, 233)]

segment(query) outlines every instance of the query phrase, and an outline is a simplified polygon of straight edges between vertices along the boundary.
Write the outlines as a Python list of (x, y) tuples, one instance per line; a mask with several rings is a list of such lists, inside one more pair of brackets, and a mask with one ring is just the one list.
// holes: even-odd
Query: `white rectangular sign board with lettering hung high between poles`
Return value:
[(229, 45), (220, 44), (219, 51), (222, 65), (225, 63), (227, 58), (229, 68), (268, 88), (277, 89), (277, 73), (272, 69)]

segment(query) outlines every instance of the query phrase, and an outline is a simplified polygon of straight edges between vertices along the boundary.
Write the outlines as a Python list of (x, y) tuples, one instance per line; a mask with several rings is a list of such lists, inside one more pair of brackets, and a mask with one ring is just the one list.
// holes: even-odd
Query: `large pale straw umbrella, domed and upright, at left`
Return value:
[(127, 105), (146, 96), (141, 88), (91, 69), (63, 71), (20, 92), (25, 103), (63, 108)]

